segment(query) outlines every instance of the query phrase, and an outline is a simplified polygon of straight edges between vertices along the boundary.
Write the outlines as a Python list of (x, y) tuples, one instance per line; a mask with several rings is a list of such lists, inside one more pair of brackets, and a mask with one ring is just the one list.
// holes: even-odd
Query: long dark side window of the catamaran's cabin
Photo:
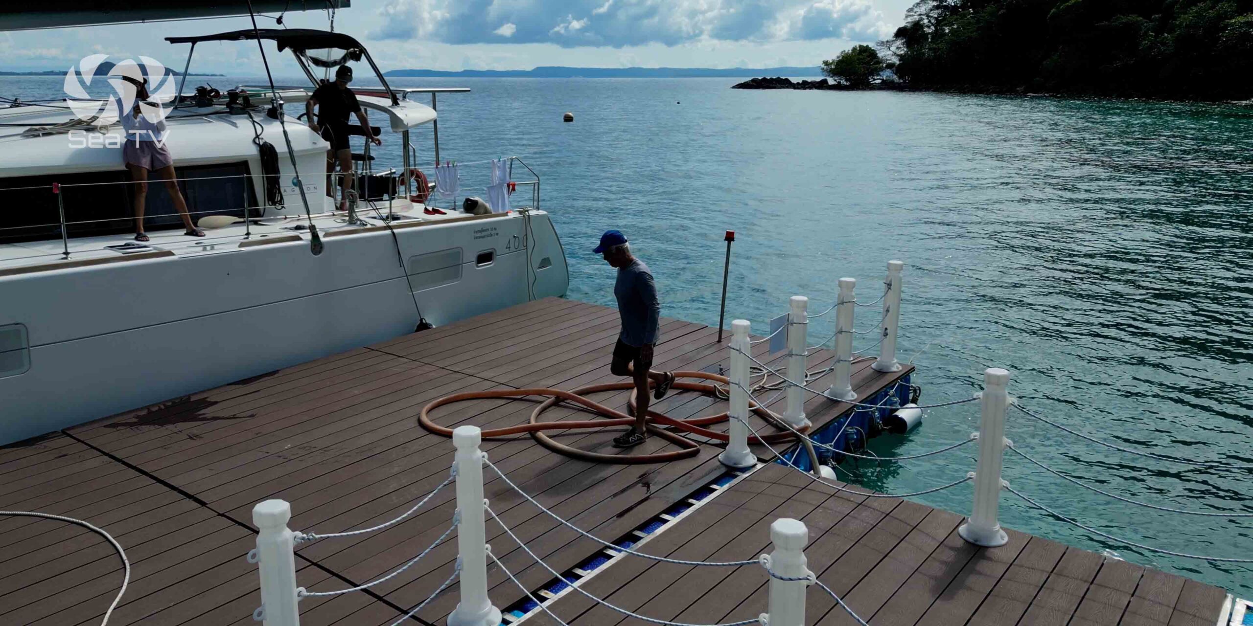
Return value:
[[(247, 184), (247, 162), (188, 165), (177, 169), (179, 189), (192, 213), (192, 222), (204, 215), (243, 217), (243, 207), (257, 207), (253, 187)], [(223, 178), (227, 177), (227, 178)], [(231, 178), (236, 177), (236, 178)], [(65, 210), (69, 237), (132, 233), (134, 184), (125, 172), (89, 172), (0, 179), (0, 205), (15, 210), (0, 213), (0, 243), (60, 239), (60, 210)], [(60, 193), (53, 193), (53, 184)], [(60, 205), (58, 205), (60, 195)], [(261, 217), (261, 209), (252, 209)], [(145, 230), (182, 229), (183, 220), (160, 180), (148, 182), (144, 209)]]

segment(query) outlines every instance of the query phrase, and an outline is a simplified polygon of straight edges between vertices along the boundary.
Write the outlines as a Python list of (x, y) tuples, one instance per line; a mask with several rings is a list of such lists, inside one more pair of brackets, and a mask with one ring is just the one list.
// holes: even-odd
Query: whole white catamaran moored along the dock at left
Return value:
[[(0, 29), (249, 13), (243, 1), (98, 5), (9, 6), (0, 9)], [(282, 0), (253, 5), (288, 8)], [(217, 228), (184, 234), (153, 184), (145, 243), (133, 239), (134, 184), (117, 148), (124, 135), (115, 114), (101, 105), (100, 115), (83, 119), (65, 101), (0, 109), (0, 443), (413, 332), (424, 322), (565, 293), (561, 243), (539, 208), (539, 178), (521, 159), (481, 165), (484, 180), (489, 165), (496, 178), (525, 175), (492, 180), (524, 192), (509, 197), (507, 212), (497, 202), (492, 213), (469, 214), (450, 200), (444, 214), (431, 214), (430, 200), (415, 195), (410, 130), (436, 124), (437, 93), (467, 89), (392, 89), (365, 46), (341, 33), (246, 29), (169, 40), (190, 44), (192, 53), (200, 41), (291, 50), (311, 84), (227, 94), (182, 93), (180, 85), (163, 103), (167, 145), (192, 218)], [(368, 146), (355, 154), (370, 175), (357, 177), (360, 199), (343, 213), (328, 195), (327, 143), (268, 109), (273, 98), (299, 104), (312, 94), (320, 81), (311, 63), (355, 59), (381, 84), (358, 89), (360, 103), (371, 124), (396, 134), (403, 158), (398, 169), (383, 169), (371, 165)], [(430, 106), (415, 100), (427, 93)], [(437, 129), (434, 135), (439, 162)], [(469, 175), (466, 164), (460, 170)]]

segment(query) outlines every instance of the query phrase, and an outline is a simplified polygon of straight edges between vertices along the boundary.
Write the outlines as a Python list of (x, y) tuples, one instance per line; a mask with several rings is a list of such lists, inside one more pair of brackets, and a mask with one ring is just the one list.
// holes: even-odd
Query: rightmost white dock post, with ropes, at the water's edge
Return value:
[(1002, 453), (1009, 444), (1009, 439), (1005, 438), (1009, 382), (1010, 373), (1005, 369), (990, 367), (984, 371), (979, 418), (979, 466), (974, 472), (975, 503), (970, 520), (957, 528), (961, 538), (976, 546), (996, 547), (1009, 541), (996, 518), (1001, 498)]

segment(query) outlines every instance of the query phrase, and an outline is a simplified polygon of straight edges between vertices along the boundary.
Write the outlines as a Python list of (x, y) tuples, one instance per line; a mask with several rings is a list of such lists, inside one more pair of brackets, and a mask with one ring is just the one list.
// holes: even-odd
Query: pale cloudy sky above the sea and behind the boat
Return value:
[[(393, 69), (769, 68), (817, 65), (885, 39), (915, 0), (352, 0), (335, 30)], [(294, 1), (292, 4), (296, 4)], [(271, 14), (273, 18), (274, 14)], [(258, 18), (261, 28), (274, 20)], [(286, 14), (327, 29), (326, 11)], [(244, 18), (0, 33), (0, 69), (64, 70), (89, 54), (150, 56), (182, 69), (187, 45), (165, 36), (249, 28)], [(267, 54), (273, 53), (273, 44)], [(283, 65), (292, 65), (284, 59)], [(192, 71), (262, 74), (248, 43), (197, 46)], [(277, 74), (277, 71), (276, 71)]]

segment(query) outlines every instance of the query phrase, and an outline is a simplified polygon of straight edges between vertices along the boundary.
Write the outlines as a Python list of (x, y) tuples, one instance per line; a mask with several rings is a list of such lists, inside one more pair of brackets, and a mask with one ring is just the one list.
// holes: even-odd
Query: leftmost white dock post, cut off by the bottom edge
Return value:
[(282, 500), (267, 500), (252, 507), (257, 525), (257, 570), (261, 575), (261, 608), (266, 626), (299, 626), (296, 587), (296, 533), (287, 527), (292, 506)]

